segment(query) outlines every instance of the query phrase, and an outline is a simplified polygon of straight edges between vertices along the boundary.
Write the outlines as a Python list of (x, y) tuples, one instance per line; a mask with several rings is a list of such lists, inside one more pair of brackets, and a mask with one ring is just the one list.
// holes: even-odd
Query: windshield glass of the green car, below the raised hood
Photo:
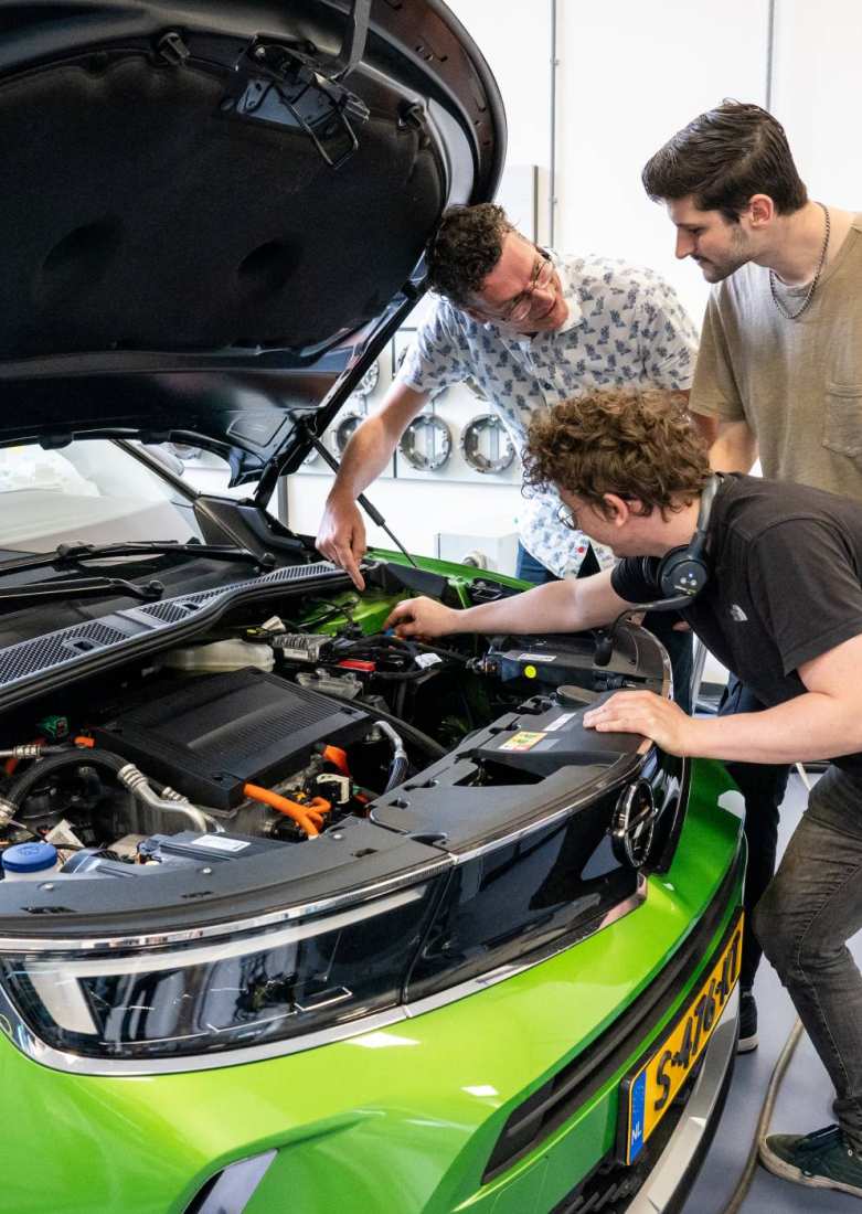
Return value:
[(108, 439), (0, 449), (0, 560), (72, 540), (202, 538), (192, 503)]

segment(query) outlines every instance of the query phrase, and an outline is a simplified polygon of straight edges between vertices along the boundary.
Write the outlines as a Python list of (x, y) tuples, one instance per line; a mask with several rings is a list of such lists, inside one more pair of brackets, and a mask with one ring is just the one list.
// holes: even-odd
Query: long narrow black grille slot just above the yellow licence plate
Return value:
[(650, 1036), (702, 965), (725, 913), (727, 896), (739, 880), (741, 866), (742, 855), (731, 864), (694, 931), (619, 1020), (511, 1112), (482, 1174), (482, 1184), (499, 1176), (568, 1121)]

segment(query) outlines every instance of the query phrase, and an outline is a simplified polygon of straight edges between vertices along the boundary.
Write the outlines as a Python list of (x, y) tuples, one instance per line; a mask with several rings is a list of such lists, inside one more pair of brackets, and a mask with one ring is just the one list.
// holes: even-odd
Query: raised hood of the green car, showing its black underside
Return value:
[(0, 0), (0, 444), (296, 466), (443, 209), (493, 197), (472, 40), (438, 0)]

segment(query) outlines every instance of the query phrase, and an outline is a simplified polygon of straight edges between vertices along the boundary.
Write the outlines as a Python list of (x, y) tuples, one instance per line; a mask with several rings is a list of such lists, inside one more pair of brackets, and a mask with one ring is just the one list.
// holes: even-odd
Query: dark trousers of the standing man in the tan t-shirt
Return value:
[[(719, 707), (719, 716), (735, 713), (759, 713), (764, 705), (736, 675), (727, 680), (727, 690)], [(750, 989), (758, 972), (762, 949), (752, 929), (754, 908), (772, 880), (778, 847), (778, 816), (787, 792), (790, 768), (787, 764), (728, 762), (727, 771), (739, 785), (745, 801), (745, 841), (748, 844), (748, 868), (745, 869), (745, 935), (742, 944), (739, 985)]]

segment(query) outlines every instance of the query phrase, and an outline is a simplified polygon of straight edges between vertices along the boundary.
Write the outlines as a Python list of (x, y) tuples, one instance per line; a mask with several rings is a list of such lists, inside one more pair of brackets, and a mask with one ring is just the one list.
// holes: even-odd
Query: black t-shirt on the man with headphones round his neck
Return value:
[[(858, 503), (807, 486), (725, 476), (707, 528), (707, 586), (680, 614), (770, 708), (804, 693), (800, 665), (862, 634)], [(659, 563), (626, 557), (611, 584), (626, 602), (660, 599)], [(837, 764), (862, 775), (862, 753)]]

